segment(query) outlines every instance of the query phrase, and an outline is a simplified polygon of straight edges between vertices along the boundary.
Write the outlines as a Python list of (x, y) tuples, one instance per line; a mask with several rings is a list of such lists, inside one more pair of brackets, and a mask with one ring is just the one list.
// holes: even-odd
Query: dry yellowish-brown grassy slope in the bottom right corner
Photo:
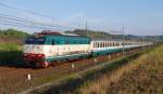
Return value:
[(78, 94), (163, 94), (163, 45), (100, 78), (87, 81)]

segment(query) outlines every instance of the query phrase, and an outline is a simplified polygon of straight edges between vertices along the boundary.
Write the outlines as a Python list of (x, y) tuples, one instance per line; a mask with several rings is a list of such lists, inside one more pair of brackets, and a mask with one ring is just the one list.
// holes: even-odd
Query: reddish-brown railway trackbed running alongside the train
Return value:
[[(141, 51), (136, 49), (125, 52), (126, 55)], [(92, 58), (79, 59), (76, 62), (63, 63), (62, 65), (51, 66), (47, 69), (0, 67), (0, 93), (15, 94), (17, 92), (33, 89), (40, 84), (60, 79), (74, 72), (79, 72), (103, 62), (121, 57), (123, 53), (99, 56)], [(72, 69), (72, 63), (75, 64)], [(32, 75), (32, 80), (27, 81), (27, 75)]]

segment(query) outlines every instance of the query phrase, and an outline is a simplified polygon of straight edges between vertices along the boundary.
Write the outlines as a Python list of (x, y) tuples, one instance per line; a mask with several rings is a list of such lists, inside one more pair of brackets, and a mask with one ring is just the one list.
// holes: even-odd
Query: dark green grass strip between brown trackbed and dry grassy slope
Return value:
[[(72, 94), (77, 93), (76, 90), (80, 88), (80, 85), (88, 85), (90, 81), (95, 81), (97, 78), (100, 78), (103, 76), (103, 73), (106, 73), (109, 71), (113, 71), (117, 69), (118, 67), (122, 67), (123, 65), (126, 65), (130, 61), (139, 57), (141, 53), (134, 53), (129, 56), (124, 56), (121, 58), (116, 58), (103, 64), (96, 65), (95, 67), (91, 67), (85, 71), (73, 73), (67, 76), (66, 79), (59, 82), (59, 84), (52, 84), (51, 88), (43, 88), (38, 89), (36, 91), (32, 91), (32, 94)], [(51, 80), (51, 79), (50, 79)], [(42, 80), (41, 80), (42, 81)], [(43, 81), (49, 81), (49, 79), (45, 79)], [(61, 84), (60, 84), (61, 83)], [(55, 86), (53, 86), (55, 85)]]

